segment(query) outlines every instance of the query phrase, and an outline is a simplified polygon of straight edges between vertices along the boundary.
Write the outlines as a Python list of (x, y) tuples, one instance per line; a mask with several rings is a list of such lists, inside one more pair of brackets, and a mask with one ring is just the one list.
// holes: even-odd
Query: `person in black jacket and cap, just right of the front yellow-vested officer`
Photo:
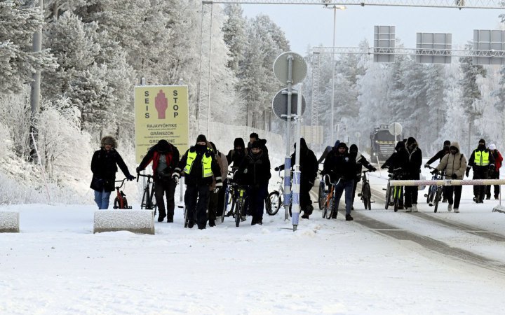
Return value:
[(259, 141), (251, 144), (247, 157), (242, 161), (234, 179), (241, 185), (248, 185), (249, 209), (253, 216), (251, 225), (263, 224), (264, 200), (268, 194), (268, 183), (271, 178), (270, 160), (263, 152)]

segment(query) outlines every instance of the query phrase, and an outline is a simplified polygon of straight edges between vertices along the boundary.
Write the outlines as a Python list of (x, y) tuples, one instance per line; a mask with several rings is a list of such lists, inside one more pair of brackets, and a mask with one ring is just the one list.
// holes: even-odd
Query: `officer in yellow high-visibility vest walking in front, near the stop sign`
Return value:
[(188, 214), (188, 228), (193, 228), (196, 221), (198, 229), (203, 230), (207, 226), (207, 204), (213, 176), (216, 182), (215, 193), (222, 188), (220, 166), (217, 165), (215, 153), (208, 148), (203, 134), (200, 134), (196, 138), (196, 144), (182, 155), (172, 179), (178, 182), (181, 174), (184, 174), (186, 184), (184, 204)]

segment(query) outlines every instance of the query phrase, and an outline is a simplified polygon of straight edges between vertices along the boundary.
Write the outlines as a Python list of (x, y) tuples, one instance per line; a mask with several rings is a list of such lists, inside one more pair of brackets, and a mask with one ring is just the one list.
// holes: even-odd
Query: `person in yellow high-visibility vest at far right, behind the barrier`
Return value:
[[(485, 140), (480, 139), (478, 147), (470, 155), (468, 166), (466, 167), (466, 177), (469, 177), (470, 169), (473, 169), (473, 179), (487, 179), (490, 169), (494, 169), (494, 156), (487, 150)], [(473, 186), (473, 200), (477, 204), (482, 204), (485, 196), (485, 186)]]

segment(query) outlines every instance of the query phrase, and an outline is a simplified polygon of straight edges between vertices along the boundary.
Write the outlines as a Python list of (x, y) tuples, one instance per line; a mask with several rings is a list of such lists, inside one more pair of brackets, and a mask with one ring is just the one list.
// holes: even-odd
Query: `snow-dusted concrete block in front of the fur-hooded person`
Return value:
[(93, 233), (130, 231), (154, 235), (154, 210), (95, 211)]

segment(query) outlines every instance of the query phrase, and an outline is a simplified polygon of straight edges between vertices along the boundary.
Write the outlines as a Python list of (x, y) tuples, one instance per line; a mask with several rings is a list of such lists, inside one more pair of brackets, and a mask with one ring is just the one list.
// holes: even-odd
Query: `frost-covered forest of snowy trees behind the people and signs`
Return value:
[[(245, 18), (239, 5), (214, 4), (212, 67), (206, 69), (200, 62), (200, 0), (46, 0), (43, 12), (38, 3), (0, 0), (0, 204), (45, 199), (43, 180), (53, 201), (86, 202), (90, 158), (105, 135), (118, 139), (118, 151), (133, 172), (133, 87), (141, 78), (147, 85), (187, 85), (192, 127), (198, 85), (209, 84), (211, 124), (283, 135), (285, 125), (271, 110), (271, 99), (283, 87), (272, 65), (290, 42), (269, 16)], [(43, 50), (32, 52), (39, 29)], [(361, 45), (368, 47), (364, 40)], [(303, 124), (311, 125), (313, 58), (310, 48), (298, 53), (309, 64), (302, 83)], [(403, 125), (405, 137), (417, 139), (425, 157), (445, 139), (459, 141), (467, 155), (480, 138), (501, 150), (505, 68), (472, 64), (471, 57), (452, 59), (452, 64), (419, 64), (415, 56), (398, 55), (386, 64), (370, 55), (337, 55), (332, 65), (330, 55), (323, 57), (322, 145), (330, 145), (335, 66), (335, 124), (342, 126), (337, 137), (356, 141), (360, 132), (362, 151), (373, 126), (393, 122)], [(209, 83), (200, 82), (200, 67), (210, 73)], [(36, 71), (41, 71), (41, 103), (32, 113)], [(30, 154), (31, 126), (40, 162)]]

